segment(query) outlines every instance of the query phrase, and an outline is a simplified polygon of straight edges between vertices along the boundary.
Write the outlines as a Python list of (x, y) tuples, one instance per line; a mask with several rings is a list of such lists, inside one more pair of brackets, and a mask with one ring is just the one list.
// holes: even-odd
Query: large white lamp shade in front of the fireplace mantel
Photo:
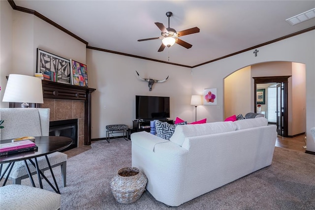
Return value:
[(44, 103), (41, 79), (27, 75), (10, 74), (2, 101)]

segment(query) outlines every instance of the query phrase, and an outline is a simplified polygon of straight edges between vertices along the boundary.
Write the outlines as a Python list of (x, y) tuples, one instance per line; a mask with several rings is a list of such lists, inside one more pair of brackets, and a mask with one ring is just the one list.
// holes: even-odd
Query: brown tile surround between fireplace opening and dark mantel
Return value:
[(50, 121), (78, 119), (78, 147), (84, 145), (84, 101), (44, 99), (41, 108), (50, 108)]

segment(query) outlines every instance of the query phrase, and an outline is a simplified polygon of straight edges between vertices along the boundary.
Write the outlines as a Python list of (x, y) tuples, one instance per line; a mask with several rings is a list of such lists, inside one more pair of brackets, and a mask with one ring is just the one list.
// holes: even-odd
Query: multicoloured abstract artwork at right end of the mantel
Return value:
[(89, 87), (88, 66), (78, 61), (70, 59), (72, 85)]

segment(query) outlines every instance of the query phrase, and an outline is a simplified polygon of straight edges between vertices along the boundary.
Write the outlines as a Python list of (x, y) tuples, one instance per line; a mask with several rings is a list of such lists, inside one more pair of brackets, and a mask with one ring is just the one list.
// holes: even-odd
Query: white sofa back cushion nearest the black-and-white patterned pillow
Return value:
[(236, 130), (236, 127), (231, 121), (178, 125), (170, 141), (182, 147), (186, 137), (203, 136), (234, 130)]

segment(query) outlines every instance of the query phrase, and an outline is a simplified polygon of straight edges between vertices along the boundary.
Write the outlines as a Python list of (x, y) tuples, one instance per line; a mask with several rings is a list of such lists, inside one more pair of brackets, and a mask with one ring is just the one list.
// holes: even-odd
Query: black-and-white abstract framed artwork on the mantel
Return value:
[(71, 84), (70, 60), (37, 48), (37, 73), (50, 75), (50, 80)]

